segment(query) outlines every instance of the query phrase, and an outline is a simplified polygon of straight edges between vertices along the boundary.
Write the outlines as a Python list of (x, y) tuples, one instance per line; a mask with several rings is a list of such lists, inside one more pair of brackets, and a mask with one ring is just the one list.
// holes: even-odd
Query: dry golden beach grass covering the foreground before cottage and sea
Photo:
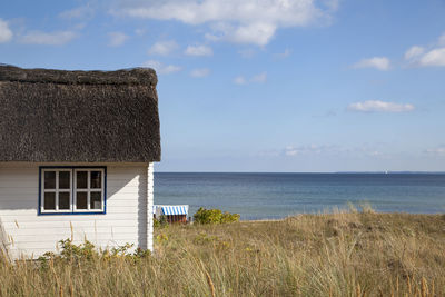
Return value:
[(0, 267), (0, 295), (444, 296), (445, 215), (336, 211), (168, 226), (148, 257)]

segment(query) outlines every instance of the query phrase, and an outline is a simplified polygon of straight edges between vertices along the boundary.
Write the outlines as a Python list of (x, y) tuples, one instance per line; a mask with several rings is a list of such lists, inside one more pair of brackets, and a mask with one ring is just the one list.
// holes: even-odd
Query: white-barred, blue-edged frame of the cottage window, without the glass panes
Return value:
[[(55, 189), (46, 189), (44, 188), (44, 172), (56, 172), (56, 188)], [(59, 172), (70, 172), (70, 187), (69, 189), (59, 189)], [(78, 171), (87, 171), (87, 188), (86, 189), (77, 189), (77, 172)], [(100, 171), (100, 188), (91, 188), (91, 171)], [(105, 214), (106, 209), (106, 168), (95, 168), (95, 167), (69, 167), (69, 168), (57, 168), (57, 167), (44, 167), (40, 169), (40, 214), (41, 215), (79, 215), (79, 214)], [(87, 209), (77, 209), (77, 192), (85, 191), (87, 192)], [(101, 208), (100, 209), (91, 209), (91, 192), (101, 192)], [(56, 209), (44, 209), (44, 194), (46, 192), (55, 192), (55, 204)], [(69, 209), (59, 209), (59, 192), (69, 192), (70, 194), (70, 208)]]

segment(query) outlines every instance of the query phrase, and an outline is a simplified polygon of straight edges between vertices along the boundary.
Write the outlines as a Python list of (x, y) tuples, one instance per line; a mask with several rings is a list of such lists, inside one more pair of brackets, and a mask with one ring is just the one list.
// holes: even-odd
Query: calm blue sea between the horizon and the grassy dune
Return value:
[(241, 219), (319, 212), (348, 202), (377, 211), (445, 212), (445, 174), (155, 174), (155, 204), (219, 208)]

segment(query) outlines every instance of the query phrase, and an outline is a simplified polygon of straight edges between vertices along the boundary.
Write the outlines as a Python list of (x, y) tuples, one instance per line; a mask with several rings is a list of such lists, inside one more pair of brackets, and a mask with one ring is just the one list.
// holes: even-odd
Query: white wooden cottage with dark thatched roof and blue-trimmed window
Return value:
[(0, 244), (11, 258), (58, 241), (152, 249), (160, 160), (152, 69), (0, 66)]

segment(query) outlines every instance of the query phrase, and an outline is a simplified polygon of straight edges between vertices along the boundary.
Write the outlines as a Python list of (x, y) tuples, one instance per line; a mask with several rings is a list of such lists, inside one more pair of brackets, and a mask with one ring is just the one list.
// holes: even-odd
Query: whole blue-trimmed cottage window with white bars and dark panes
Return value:
[(105, 214), (106, 168), (40, 168), (40, 214)]

